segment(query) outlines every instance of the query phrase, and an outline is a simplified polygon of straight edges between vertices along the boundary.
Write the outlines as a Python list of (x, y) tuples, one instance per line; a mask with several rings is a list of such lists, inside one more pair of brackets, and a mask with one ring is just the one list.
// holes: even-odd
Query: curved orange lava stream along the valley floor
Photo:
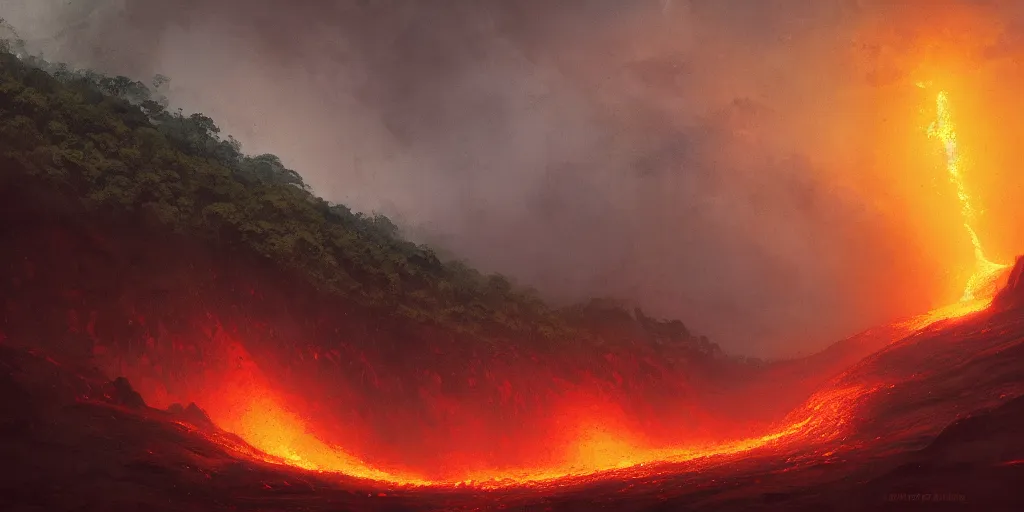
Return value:
[[(256, 389), (251, 388), (250, 391)], [(218, 415), (224, 421), (223, 428), (239, 435), (255, 450), (228, 436), (197, 432), (238, 455), (309, 471), (342, 474), (391, 485), (464, 484), (478, 488), (500, 488), (569, 482), (580, 478), (594, 479), (600, 477), (601, 473), (615, 470), (620, 474), (622, 470), (627, 470), (640, 475), (654, 472), (657, 466), (665, 464), (736, 455), (798, 440), (802, 445), (826, 441), (844, 432), (854, 404), (869, 391), (863, 387), (850, 387), (818, 392), (804, 407), (791, 413), (781, 427), (765, 435), (719, 443), (676, 447), (644, 446), (622, 432), (609, 432), (598, 427), (585, 428), (580, 432), (578, 442), (563, 455), (562, 464), (474, 472), (459, 480), (431, 480), (414, 474), (374, 468), (348, 455), (341, 447), (318, 440), (300, 418), (266, 394), (251, 396), (240, 404), (241, 410), (232, 414)]]

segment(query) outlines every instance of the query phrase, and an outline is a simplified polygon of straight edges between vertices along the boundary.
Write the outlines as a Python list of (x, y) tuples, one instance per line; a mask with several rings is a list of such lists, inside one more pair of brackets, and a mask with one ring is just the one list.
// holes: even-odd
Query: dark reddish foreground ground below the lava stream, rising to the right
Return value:
[[(889, 510), (930, 500), (1019, 510), (1021, 302), (997, 301), (865, 357), (794, 412), (822, 411), (821, 397), (830, 404), (822, 423), (788, 440), (492, 490), (385, 485), (272, 464), (183, 412), (138, 403), (98, 372), (3, 346), (0, 501), (4, 510), (642, 511)], [(865, 392), (836, 393), (850, 388)]]

